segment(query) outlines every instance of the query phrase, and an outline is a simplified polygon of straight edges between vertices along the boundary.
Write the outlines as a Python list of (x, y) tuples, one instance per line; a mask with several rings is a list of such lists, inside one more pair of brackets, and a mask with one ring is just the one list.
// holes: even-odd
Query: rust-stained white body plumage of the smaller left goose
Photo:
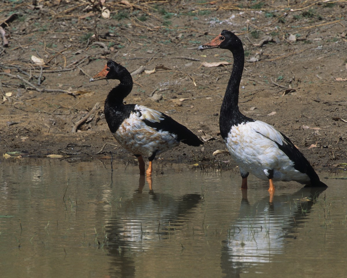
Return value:
[(153, 153), (160, 154), (179, 145), (176, 134), (156, 130), (148, 126), (145, 120), (160, 123), (164, 117), (159, 111), (143, 105), (135, 105), (134, 111), (121, 123), (113, 136), (129, 152), (147, 157)]

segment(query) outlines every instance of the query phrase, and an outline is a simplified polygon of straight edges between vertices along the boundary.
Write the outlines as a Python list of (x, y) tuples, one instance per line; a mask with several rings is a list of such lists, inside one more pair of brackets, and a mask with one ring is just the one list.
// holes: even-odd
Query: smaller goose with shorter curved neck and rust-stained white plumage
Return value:
[(156, 155), (178, 146), (180, 142), (189, 146), (204, 144), (184, 125), (164, 113), (138, 104), (125, 105), (123, 99), (133, 88), (132, 76), (125, 67), (109, 60), (90, 82), (100, 79), (120, 81), (105, 100), (105, 118), (118, 143), (137, 157), (141, 175), (145, 174), (142, 156), (148, 157), (150, 163), (146, 174), (150, 176)]

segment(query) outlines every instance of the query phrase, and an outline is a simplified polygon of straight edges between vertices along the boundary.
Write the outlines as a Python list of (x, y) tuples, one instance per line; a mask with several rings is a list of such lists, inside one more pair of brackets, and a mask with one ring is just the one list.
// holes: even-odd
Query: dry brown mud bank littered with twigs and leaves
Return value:
[[(100, 2), (1, 1), (8, 39), (0, 48), (3, 154), (85, 159), (112, 152), (136, 163), (114, 146), (103, 115), (103, 101), (118, 81), (88, 82), (113, 59), (130, 72), (146, 70), (133, 76), (126, 103), (165, 112), (205, 141), (203, 147), (181, 144), (160, 158), (235, 167), (228, 154), (212, 155), (225, 149), (218, 119), (231, 52), (196, 50), (228, 29), (245, 48), (240, 111), (284, 132), (318, 172), (343, 169), (346, 1)], [(105, 143), (114, 145), (102, 150)]]

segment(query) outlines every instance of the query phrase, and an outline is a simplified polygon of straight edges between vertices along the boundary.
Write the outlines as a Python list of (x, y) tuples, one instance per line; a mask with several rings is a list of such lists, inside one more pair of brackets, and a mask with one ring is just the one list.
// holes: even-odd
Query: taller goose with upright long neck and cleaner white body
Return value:
[(234, 65), (227, 90), (220, 108), (221, 136), (235, 162), (239, 165), (242, 188), (247, 188), (249, 173), (270, 183), (273, 181), (297, 181), (307, 186), (325, 186), (319, 180), (304, 155), (282, 132), (272, 125), (253, 120), (240, 113), (238, 108), (239, 86), (244, 67), (244, 50), (241, 40), (232, 32), (223, 30), (211, 42), (198, 49), (229, 49)]

